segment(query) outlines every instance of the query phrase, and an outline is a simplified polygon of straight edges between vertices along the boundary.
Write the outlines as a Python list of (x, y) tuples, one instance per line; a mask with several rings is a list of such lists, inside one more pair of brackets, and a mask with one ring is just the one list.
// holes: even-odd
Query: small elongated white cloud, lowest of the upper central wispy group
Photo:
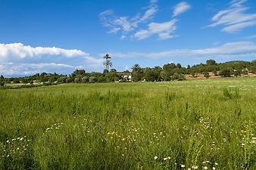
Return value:
[(176, 30), (176, 19), (164, 23), (149, 23), (148, 29), (142, 29), (135, 33), (136, 39), (146, 39), (151, 35), (157, 34), (159, 39), (173, 38), (170, 34)]

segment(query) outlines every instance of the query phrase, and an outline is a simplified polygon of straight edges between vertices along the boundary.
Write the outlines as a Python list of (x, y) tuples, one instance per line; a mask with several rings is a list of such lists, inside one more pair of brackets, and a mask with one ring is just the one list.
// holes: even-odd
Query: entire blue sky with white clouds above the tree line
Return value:
[(254, 0), (0, 0), (0, 74), (256, 59)]

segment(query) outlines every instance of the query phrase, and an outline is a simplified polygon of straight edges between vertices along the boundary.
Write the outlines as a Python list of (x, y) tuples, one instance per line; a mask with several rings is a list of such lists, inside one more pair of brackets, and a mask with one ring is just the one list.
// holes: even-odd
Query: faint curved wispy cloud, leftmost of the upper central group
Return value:
[(144, 14), (136, 14), (135, 17), (117, 17), (113, 10), (103, 11), (99, 14), (103, 26), (110, 28), (108, 33), (122, 32), (122, 38), (126, 37), (128, 32), (138, 27), (139, 23), (145, 23), (155, 17), (158, 12), (157, 0), (151, 0)]

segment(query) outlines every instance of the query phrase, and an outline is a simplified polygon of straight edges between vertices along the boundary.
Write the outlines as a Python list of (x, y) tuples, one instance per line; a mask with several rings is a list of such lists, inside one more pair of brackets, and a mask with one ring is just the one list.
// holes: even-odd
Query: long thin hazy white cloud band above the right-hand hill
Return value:
[(128, 58), (128, 57), (148, 57), (148, 58), (163, 58), (163, 57), (255, 57), (256, 44), (253, 42), (230, 42), (220, 45), (215, 48), (202, 49), (173, 49), (170, 51), (161, 51), (154, 53), (110, 53), (112, 57)]

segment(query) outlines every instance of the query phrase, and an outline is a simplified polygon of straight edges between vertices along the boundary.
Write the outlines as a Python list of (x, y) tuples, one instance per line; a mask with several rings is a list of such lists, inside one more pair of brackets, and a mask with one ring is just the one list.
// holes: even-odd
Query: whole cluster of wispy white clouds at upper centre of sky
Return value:
[[(187, 2), (181, 2), (173, 8), (173, 18), (165, 22), (151, 22), (148, 23), (148, 28), (139, 29), (139, 23), (147, 23), (158, 12), (157, 0), (151, 0), (150, 5), (143, 15), (137, 14), (136, 17), (117, 17), (114, 11), (107, 10), (101, 12), (99, 17), (103, 26), (109, 27), (108, 33), (122, 32), (120, 39), (126, 39), (129, 32), (133, 32), (131, 36), (137, 40), (147, 39), (148, 37), (156, 34), (158, 39), (172, 39), (176, 37), (172, 33), (176, 30), (176, 17), (191, 8)], [(135, 32), (135, 33), (134, 33)]]

